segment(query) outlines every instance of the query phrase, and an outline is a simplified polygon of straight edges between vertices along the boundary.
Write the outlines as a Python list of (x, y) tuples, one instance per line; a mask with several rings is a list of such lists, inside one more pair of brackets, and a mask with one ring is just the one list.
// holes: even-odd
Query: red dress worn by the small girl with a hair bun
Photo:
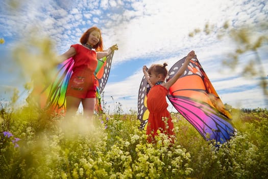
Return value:
[[(172, 118), (167, 110), (167, 93), (167, 89), (162, 85), (154, 85), (148, 93), (147, 108), (150, 114), (146, 133), (149, 135), (149, 142), (152, 142), (155, 136), (157, 136), (157, 130), (160, 130), (161, 133), (165, 133), (168, 136), (175, 136)], [(162, 119), (167, 119), (167, 125)]]

